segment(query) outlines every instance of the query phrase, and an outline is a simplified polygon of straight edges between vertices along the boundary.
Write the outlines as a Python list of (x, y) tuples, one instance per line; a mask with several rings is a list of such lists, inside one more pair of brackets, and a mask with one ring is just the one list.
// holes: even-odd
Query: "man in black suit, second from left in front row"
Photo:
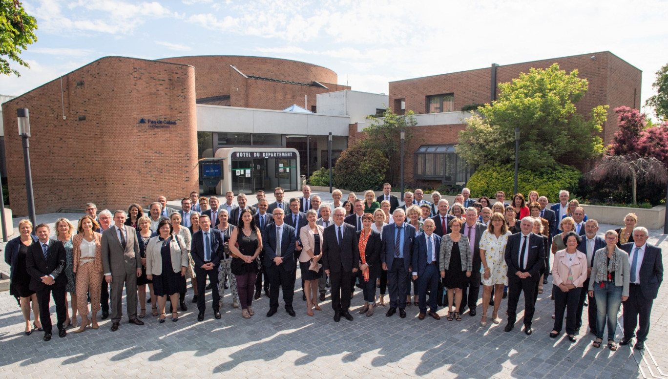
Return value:
[[(30, 289), (37, 293), (39, 320), (44, 330), (44, 340), (51, 340), (51, 313), (49, 296), (53, 296), (57, 315), (58, 336), (65, 337), (65, 285), (67, 276), (63, 273), (67, 265), (67, 256), (63, 243), (49, 239), (49, 225), (39, 224), (35, 228), (38, 241), (30, 245), (25, 256), (25, 269), (30, 275)], [(61, 275), (62, 274), (62, 275)]]

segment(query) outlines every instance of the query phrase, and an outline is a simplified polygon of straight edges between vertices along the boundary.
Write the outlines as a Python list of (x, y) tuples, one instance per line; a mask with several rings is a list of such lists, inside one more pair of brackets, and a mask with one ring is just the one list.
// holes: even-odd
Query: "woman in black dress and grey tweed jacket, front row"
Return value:
[[(448, 223), (452, 233), (446, 234), (441, 239), (438, 265), (440, 266), (443, 285), (448, 289), (448, 321), (454, 318), (462, 321), (460, 314), (460, 303), (462, 303), (462, 288), (468, 283), (467, 277), (471, 276), (473, 262), (471, 257), (471, 246), (468, 237), (460, 231), (464, 224), (462, 220), (455, 218)], [(447, 273), (447, 275), (446, 275)], [(455, 310), (452, 311), (452, 300), (454, 297)]]

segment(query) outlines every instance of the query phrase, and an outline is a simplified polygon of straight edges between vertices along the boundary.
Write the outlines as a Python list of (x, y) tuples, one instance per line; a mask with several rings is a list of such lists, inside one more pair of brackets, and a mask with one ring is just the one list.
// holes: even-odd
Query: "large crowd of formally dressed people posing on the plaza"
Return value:
[(619, 344), (635, 337), (635, 348), (644, 348), (663, 265), (661, 249), (647, 243), (649, 233), (637, 225), (634, 213), (625, 217), (624, 227), (606, 231), (602, 238), (597, 221), (588, 219), (567, 191), (560, 191), (559, 202), (551, 207), (536, 191), (526, 198), (517, 193), (506, 204), (502, 191), (494, 201), (484, 196), (476, 201), (468, 188), (452, 205), (437, 192), (428, 201), (421, 189), (404, 193), (400, 205), (387, 183), (377, 197), (366, 191), (360, 199), (350, 193), (341, 201), (343, 193), (335, 190), (331, 204), (311, 195), (309, 186), (303, 186), (303, 197), (289, 201), (283, 188), (275, 188), (274, 195), (270, 204), (259, 191), (251, 206), (243, 193), (234, 204), (229, 191), (221, 204), (217, 197), (193, 191), (182, 199), (181, 209), (170, 209), (161, 196), (146, 215), (138, 204), (128, 211), (98, 213), (88, 203), (76, 226), (65, 218), (55, 222), (55, 238), (51, 226), (39, 224), (33, 230), (29, 220), (21, 220), (19, 237), (7, 243), (5, 261), (25, 334), (40, 330), (45, 341), (51, 339), (50, 297), (59, 337), (65, 337), (68, 326), (76, 328), (74, 333), (98, 329), (98, 312), (102, 320), (111, 318), (116, 331), (124, 289), (130, 324), (144, 324), (148, 304), (158, 322), (166, 322), (168, 314), (178, 322), (178, 312), (188, 309), (186, 279), (192, 283), (198, 322), (204, 320), (209, 289), (216, 319), (221, 318), (226, 289), (243, 318), (255, 315), (253, 300), (263, 292), (269, 297), (267, 317), (277, 313), (281, 292), (285, 311), (295, 317), (299, 270), (310, 317), (323, 310), (319, 302), (326, 299), (327, 287), (335, 322), (353, 321), (349, 309), (355, 286), (363, 295), (359, 313), (367, 317), (385, 306), (385, 316), (398, 311), (405, 318), (406, 308), (415, 306), (419, 320), (427, 315), (440, 320), (442, 303), (448, 307), (446, 319), (461, 322), (466, 309), (474, 317), (481, 305), (482, 327), (502, 322), (500, 305), (507, 297), (504, 330), (510, 332), (523, 293), (522, 324), (531, 335), (536, 299), (551, 275), (551, 338), (562, 334), (565, 315), (566, 336), (576, 342), (588, 305), (593, 346), (601, 347), (607, 327), (607, 346), (617, 350), (617, 315), (623, 304)]

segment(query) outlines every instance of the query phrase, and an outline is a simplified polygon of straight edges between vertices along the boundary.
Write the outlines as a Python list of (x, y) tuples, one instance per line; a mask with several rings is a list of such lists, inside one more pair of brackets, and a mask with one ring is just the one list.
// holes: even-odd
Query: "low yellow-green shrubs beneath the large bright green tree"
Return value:
[[(496, 191), (504, 191), (507, 201), (510, 201), (513, 195), (514, 177), (514, 164), (487, 164), (476, 169), (476, 173), (471, 176), (466, 186), (471, 190), (471, 197), (476, 199), (483, 195), (494, 199)], [(574, 193), (580, 178), (582, 172), (564, 164), (555, 164), (552, 168), (539, 171), (520, 168), (517, 187), (524, 197), (535, 190), (554, 203), (559, 199), (560, 190)]]

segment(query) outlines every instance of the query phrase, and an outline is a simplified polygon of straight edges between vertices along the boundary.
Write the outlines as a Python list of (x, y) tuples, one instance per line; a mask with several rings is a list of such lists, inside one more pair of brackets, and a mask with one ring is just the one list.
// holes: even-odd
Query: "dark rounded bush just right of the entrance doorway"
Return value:
[(348, 191), (378, 191), (388, 167), (383, 152), (358, 143), (344, 150), (336, 161), (335, 182), (338, 188)]

